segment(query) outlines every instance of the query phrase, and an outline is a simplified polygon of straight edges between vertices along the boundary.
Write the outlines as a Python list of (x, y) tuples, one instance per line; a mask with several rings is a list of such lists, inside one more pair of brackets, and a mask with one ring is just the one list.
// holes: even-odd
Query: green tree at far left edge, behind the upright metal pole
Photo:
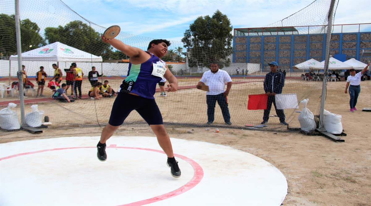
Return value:
[[(16, 20), (14, 15), (0, 14), (0, 55), (8, 58), (17, 54)], [(40, 28), (29, 19), (20, 21), (22, 52), (45, 45)], [(32, 45), (30, 47), (30, 45)]]

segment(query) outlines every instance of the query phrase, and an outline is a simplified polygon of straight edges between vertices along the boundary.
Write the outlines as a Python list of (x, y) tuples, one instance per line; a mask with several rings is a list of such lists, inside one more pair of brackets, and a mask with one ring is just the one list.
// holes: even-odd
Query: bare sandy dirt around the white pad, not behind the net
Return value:
[[(322, 136), (306, 136), (299, 132), (219, 128), (220, 132), (215, 133), (214, 128), (205, 130), (206, 127), (165, 127), (171, 138), (228, 145), (272, 163), (285, 175), (288, 182), (284, 205), (368, 206), (371, 205), (371, 112), (361, 110), (371, 108), (371, 81), (361, 82), (356, 112), (348, 111), (349, 95), (344, 94), (344, 88), (344, 81), (328, 82), (325, 104), (325, 109), (342, 115), (342, 125), (347, 134), (342, 137), (345, 139), (344, 143), (335, 143)], [(178, 92), (181, 93), (181, 90)], [(300, 101), (299, 97), (298, 100)], [(83, 107), (82, 105), (81, 108)], [(216, 113), (217, 111), (216, 109)], [(86, 118), (95, 116), (89, 115)], [(204, 121), (204, 117), (202, 118)], [(294, 118), (296, 117), (292, 117), (291, 121), (295, 121)], [(100, 127), (68, 126), (50, 127), (37, 135), (17, 131), (1, 135), (0, 143), (87, 134), (99, 136), (101, 130)], [(146, 125), (130, 124), (122, 126), (114, 135), (153, 136), (153, 133)], [(174, 148), (175, 153), (176, 151)], [(238, 163), (236, 160), (232, 164)], [(249, 183), (243, 184), (249, 186)]]

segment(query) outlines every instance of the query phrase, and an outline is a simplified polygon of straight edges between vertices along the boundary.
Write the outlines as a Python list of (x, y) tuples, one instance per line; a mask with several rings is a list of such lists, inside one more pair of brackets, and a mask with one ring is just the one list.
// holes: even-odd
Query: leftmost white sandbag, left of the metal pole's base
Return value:
[(10, 102), (7, 108), (1, 109), (0, 111), (0, 127), (4, 130), (19, 130), (21, 125), (19, 124), (17, 112), (11, 108), (17, 107), (16, 104)]

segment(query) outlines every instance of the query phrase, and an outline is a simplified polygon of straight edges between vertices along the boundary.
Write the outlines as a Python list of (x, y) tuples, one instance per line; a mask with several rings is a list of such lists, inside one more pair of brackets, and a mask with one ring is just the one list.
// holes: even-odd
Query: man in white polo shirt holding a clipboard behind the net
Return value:
[[(207, 104), (207, 123), (213, 124), (215, 104), (218, 101), (221, 113), (223, 114), (224, 122), (227, 125), (231, 125), (230, 114), (228, 109), (227, 96), (232, 86), (232, 79), (229, 74), (219, 69), (218, 63), (211, 63), (210, 70), (202, 75), (200, 82), (197, 84), (197, 88), (200, 89), (201, 85), (209, 86), (209, 91), (206, 92), (206, 104)], [(227, 89), (224, 91), (224, 85), (227, 82)]]

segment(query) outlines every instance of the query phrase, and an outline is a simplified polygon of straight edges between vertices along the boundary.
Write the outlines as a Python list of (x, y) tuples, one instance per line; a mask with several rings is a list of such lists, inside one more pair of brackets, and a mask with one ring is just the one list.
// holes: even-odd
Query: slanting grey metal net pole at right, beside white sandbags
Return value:
[(325, 99), (326, 99), (326, 88), (327, 88), (327, 72), (328, 72), (328, 61), (330, 53), (330, 41), (332, 32), (332, 14), (334, 13), (335, 0), (331, 0), (330, 9), (328, 12), (328, 27), (326, 36), (326, 50), (325, 50), (325, 68), (324, 78), (322, 81), (322, 96), (321, 96), (321, 110), (319, 112), (319, 126), (318, 129), (324, 130), (324, 111), (325, 111)]

